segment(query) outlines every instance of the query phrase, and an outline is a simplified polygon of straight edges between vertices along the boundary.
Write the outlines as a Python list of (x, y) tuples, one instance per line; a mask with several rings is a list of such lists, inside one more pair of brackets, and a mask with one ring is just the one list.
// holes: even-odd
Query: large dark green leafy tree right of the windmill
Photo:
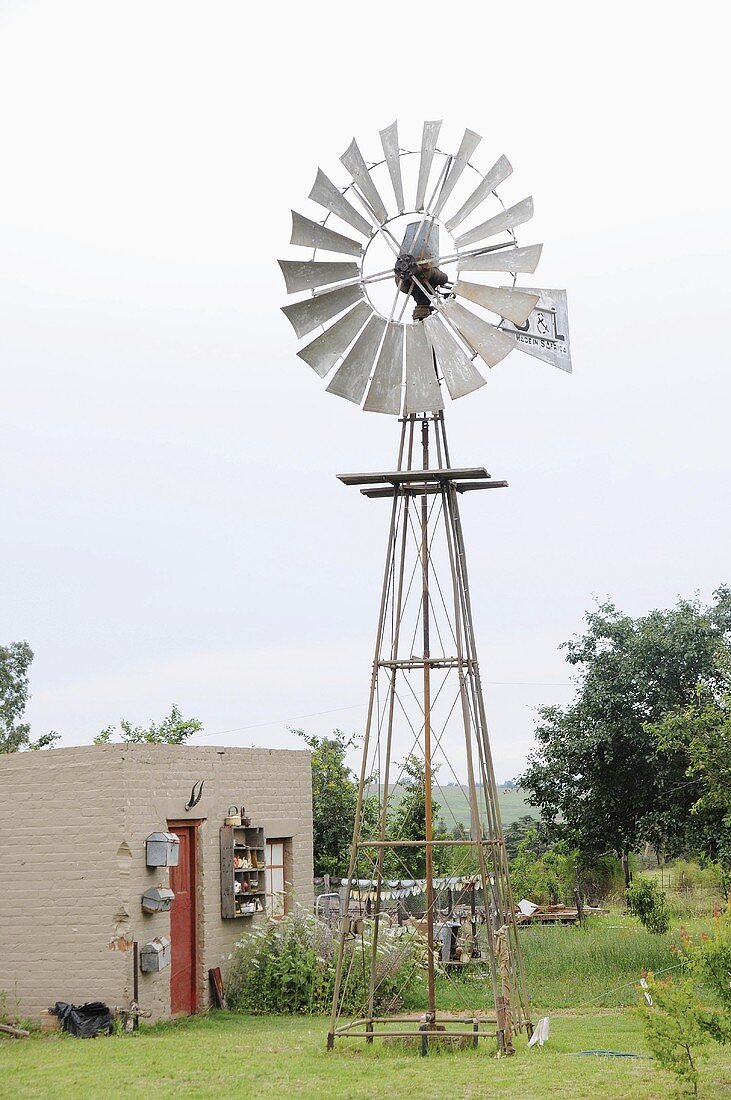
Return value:
[(686, 776), (687, 747), (662, 743), (652, 726), (689, 705), (699, 684), (719, 690), (731, 588), (719, 588), (709, 607), (680, 601), (636, 619), (601, 604), (586, 623), (563, 647), (577, 670), (576, 698), (540, 711), (520, 785), (552, 834), (585, 855), (627, 859), (643, 840), (674, 855), (691, 839), (697, 789)]

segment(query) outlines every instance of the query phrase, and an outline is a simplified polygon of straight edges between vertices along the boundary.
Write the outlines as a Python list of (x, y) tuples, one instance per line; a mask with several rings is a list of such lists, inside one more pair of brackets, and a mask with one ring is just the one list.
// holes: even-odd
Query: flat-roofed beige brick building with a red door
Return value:
[[(226, 826), (242, 805), (251, 827)], [(155, 848), (154, 833), (174, 836)], [(160, 850), (175, 866), (148, 866)], [(157, 911), (145, 912), (151, 890), (145, 905)], [(34, 1018), (56, 1001), (128, 1007), (135, 944), (140, 1007), (153, 1020), (200, 1011), (209, 969), (225, 978), (258, 913), (311, 904), (307, 751), (98, 745), (0, 756), (0, 994), (10, 1013)], [(233, 915), (242, 909), (255, 914)], [(159, 969), (144, 970), (151, 963)]]

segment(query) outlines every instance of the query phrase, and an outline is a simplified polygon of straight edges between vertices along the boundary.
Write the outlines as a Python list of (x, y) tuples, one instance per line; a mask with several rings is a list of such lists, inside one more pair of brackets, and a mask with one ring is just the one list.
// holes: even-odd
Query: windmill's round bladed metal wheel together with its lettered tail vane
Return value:
[(542, 245), (521, 248), (516, 235), (532, 198), (506, 206), (497, 187), (512, 173), (507, 157), (481, 173), (470, 161), (479, 135), (465, 130), (457, 152), (445, 153), (441, 125), (425, 122), (420, 147), (408, 150), (392, 123), (379, 135), (383, 158), (370, 163), (353, 140), (341, 157), (350, 183), (336, 187), (318, 169), (309, 198), (322, 220), (292, 211), (290, 243), (308, 258), (279, 261), (287, 290), (300, 296), (283, 307), (307, 338), (298, 355), (329, 393), (366, 411), (442, 409), (443, 386), (453, 399), (478, 389), (475, 360), (492, 367), (514, 349), (571, 371), (564, 292), (517, 286), (541, 255)]

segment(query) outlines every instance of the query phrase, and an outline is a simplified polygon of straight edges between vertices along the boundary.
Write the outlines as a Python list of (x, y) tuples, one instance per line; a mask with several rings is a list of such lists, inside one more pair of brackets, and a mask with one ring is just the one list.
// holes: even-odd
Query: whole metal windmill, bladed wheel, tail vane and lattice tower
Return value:
[[(508, 160), (484, 173), (470, 160), (480, 136), (465, 130), (457, 152), (445, 153), (441, 127), (424, 122), (419, 148), (409, 150), (392, 123), (379, 135), (383, 158), (370, 163), (354, 140), (341, 157), (350, 176), (343, 187), (318, 169), (309, 198), (324, 217), (292, 211), (290, 243), (311, 255), (279, 261), (287, 290), (301, 296), (283, 307), (307, 338), (297, 354), (326, 380), (328, 393), (400, 426), (391, 470), (339, 475), (368, 498), (388, 499), (390, 522), (328, 1046), (414, 1034), (425, 1053), (448, 1034), (475, 1045), (492, 1036), (511, 1053), (514, 1033), (532, 1025), (459, 516), (465, 493), (507, 482), (483, 466), (452, 465), (444, 394), (454, 400), (480, 388), (484, 369), (513, 350), (571, 371), (571, 349), (565, 292), (518, 286), (541, 255), (540, 244), (520, 245), (516, 235), (532, 217), (532, 198), (506, 206), (497, 188), (512, 173)], [(414, 835), (395, 839), (389, 811), (409, 769), (423, 814)], [(436, 826), (434, 807), (445, 804), (440, 774), (457, 781), (468, 832)], [(489, 965), (492, 1005), (455, 1016), (440, 1007), (440, 990), (457, 923), (454, 892), (470, 877), (484, 923), (478, 928), (473, 892), (468, 954)], [(427, 983), (424, 1012), (412, 1018), (388, 1011), (398, 1010), (398, 996), (384, 1007), (388, 966), (379, 960), (387, 941), (406, 935), (390, 926), (386, 902), (422, 881)], [(363, 976), (357, 1011), (348, 1000), (354, 972)], [(356, 1019), (343, 1022), (344, 1014)]]

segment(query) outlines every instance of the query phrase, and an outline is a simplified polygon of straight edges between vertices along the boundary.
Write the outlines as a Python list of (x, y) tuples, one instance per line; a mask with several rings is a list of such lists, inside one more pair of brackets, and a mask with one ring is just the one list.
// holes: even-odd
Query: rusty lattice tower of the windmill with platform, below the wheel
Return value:
[[(451, 465), (443, 413), (410, 414), (400, 422), (395, 470), (340, 476), (367, 497), (390, 499), (391, 512), (328, 1048), (336, 1038), (412, 1038), (425, 1054), (432, 1042), (477, 1046), (480, 1038), (492, 1038), (498, 1050), (511, 1054), (516, 1032), (525, 1028), (530, 1035), (532, 1027), (458, 503), (466, 492), (507, 483), (494, 481), (483, 468)], [(439, 778), (444, 772), (451, 788), (454, 777), (465, 800), (468, 832), (455, 820), (450, 834), (436, 817), (438, 806), (447, 805)], [(405, 773), (416, 813), (401, 816), (396, 836)], [(454, 893), (468, 881), (473, 908), (461, 927), (469, 950), (489, 970), (491, 998), (454, 1014), (448, 1011), (450, 930), (459, 923)], [(391, 958), (409, 943), (403, 937), (411, 936), (412, 946), (419, 941), (414, 922), (395, 927), (387, 913), (387, 901), (403, 891), (405, 882), (410, 883), (406, 889), (423, 883), (425, 895), (419, 922), (425, 988), (416, 1015), (388, 1011), (398, 994), (387, 1011), (383, 1008)], [(446, 906), (445, 883), (454, 886), (454, 891), (447, 887)]]

